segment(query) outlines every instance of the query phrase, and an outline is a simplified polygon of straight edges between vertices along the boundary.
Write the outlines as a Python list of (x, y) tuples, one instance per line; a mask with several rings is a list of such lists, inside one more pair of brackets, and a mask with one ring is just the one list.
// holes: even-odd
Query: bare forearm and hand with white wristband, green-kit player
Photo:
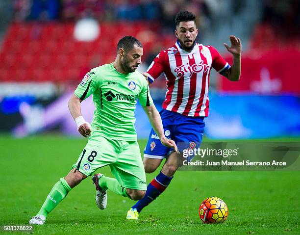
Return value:
[(81, 100), (73, 94), (68, 102), (68, 106), (70, 113), (77, 124), (78, 132), (86, 137), (87, 135), (90, 135), (92, 130), (91, 125), (81, 116), (80, 103)]

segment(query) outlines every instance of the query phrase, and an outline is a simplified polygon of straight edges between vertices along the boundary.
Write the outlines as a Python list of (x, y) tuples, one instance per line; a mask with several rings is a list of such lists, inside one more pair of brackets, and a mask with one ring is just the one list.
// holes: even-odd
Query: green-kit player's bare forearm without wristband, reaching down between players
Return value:
[(161, 117), (160, 117), (159, 112), (157, 111), (155, 105), (153, 104), (150, 106), (143, 106), (143, 108), (149, 118), (149, 121), (151, 123), (153, 130), (158, 135), (160, 142), (166, 147), (174, 148), (176, 153), (179, 154), (178, 148), (177, 148), (174, 140), (168, 139), (165, 136)]

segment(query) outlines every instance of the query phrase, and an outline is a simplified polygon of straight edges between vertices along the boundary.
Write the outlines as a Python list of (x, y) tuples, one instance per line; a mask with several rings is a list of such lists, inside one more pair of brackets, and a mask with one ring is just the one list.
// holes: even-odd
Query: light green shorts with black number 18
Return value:
[(147, 190), (146, 174), (137, 141), (113, 140), (92, 135), (72, 168), (91, 176), (109, 165), (111, 172), (125, 188)]

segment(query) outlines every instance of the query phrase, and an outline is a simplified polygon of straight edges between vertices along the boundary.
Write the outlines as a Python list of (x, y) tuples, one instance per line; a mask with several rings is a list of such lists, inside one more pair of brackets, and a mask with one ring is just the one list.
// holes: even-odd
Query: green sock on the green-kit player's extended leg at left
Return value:
[(43, 206), (37, 213), (38, 215), (47, 215), (60, 203), (70, 192), (71, 187), (64, 178), (60, 178), (57, 183), (52, 187), (49, 195), (47, 196)]

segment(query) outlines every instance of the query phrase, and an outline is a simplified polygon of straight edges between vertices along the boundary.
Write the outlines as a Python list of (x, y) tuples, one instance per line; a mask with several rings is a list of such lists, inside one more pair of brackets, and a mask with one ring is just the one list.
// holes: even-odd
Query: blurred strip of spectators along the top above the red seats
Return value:
[(174, 16), (184, 8), (197, 15), (201, 32), (228, 22), (235, 28), (243, 24), (245, 30), (263, 23), (275, 31), (280, 28), (282, 37), (299, 36), (300, 31), (298, 0), (15, 0), (11, 7), (15, 22), (150, 21), (173, 31)]

